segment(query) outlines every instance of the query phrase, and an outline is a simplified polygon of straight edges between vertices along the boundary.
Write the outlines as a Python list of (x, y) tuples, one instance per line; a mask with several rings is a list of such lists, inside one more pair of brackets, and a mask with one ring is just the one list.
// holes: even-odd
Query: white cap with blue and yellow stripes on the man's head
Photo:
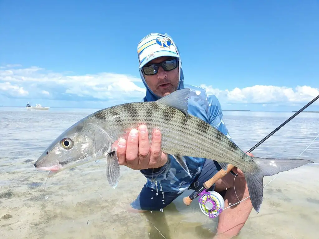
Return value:
[(161, 56), (180, 58), (178, 48), (167, 34), (151, 33), (144, 37), (137, 45), (139, 69), (147, 62)]

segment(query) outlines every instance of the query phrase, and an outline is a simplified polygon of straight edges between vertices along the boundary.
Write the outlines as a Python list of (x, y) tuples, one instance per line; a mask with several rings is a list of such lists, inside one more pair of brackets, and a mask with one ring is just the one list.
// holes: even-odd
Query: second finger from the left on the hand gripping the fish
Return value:
[(126, 163), (132, 169), (138, 166), (138, 131), (132, 129), (126, 143)]

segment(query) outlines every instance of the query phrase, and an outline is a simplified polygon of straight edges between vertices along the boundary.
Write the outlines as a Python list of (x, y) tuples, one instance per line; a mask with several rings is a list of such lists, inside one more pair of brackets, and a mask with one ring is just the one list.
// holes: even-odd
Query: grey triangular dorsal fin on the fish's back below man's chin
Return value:
[(190, 93), (190, 89), (184, 88), (181, 90), (174, 91), (170, 93), (169, 95), (158, 99), (156, 102), (161, 105), (174, 107), (182, 111), (187, 117), (189, 93)]

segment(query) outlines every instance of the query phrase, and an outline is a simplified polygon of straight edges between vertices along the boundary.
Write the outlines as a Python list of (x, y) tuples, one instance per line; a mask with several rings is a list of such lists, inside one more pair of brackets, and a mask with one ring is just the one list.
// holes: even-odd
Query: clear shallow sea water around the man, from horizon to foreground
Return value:
[[(51, 178), (34, 168), (59, 134), (96, 110), (0, 107), (0, 238), (213, 238), (218, 218), (205, 216), (197, 200), (182, 202), (192, 191), (163, 212), (130, 214), (125, 206), (145, 183), (139, 171), (121, 167), (120, 183), (112, 189), (105, 160)], [(224, 120), (247, 151), (292, 114), (225, 111)], [(319, 163), (318, 134), (319, 113), (300, 113), (252, 153)], [(264, 187), (261, 210), (251, 212), (236, 238), (319, 238), (318, 170), (310, 164), (265, 177), (264, 185), (275, 179)]]

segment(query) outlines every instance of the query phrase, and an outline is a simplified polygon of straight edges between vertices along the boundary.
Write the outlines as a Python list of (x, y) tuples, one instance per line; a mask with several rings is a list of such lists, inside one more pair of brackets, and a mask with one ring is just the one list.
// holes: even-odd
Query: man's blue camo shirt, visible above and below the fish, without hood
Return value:
[[(207, 96), (205, 89), (197, 86), (185, 85), (185, 88), (191, 90), (188, 106), (189, 114), (208, 122), (231, 139), (223, 120), (219, 100), (216, 96)], [(156, 188), (155, 182), (159, 181), (164, 192), (182, 193), (187, 190), (194, 178), (201, 172), (205, 159), (185, 156), (185, 160), (190, 176), (171, 155), (168, 156), (167, 163), (161, 168), (140, 170), (147, 178), (146, 186)]]

